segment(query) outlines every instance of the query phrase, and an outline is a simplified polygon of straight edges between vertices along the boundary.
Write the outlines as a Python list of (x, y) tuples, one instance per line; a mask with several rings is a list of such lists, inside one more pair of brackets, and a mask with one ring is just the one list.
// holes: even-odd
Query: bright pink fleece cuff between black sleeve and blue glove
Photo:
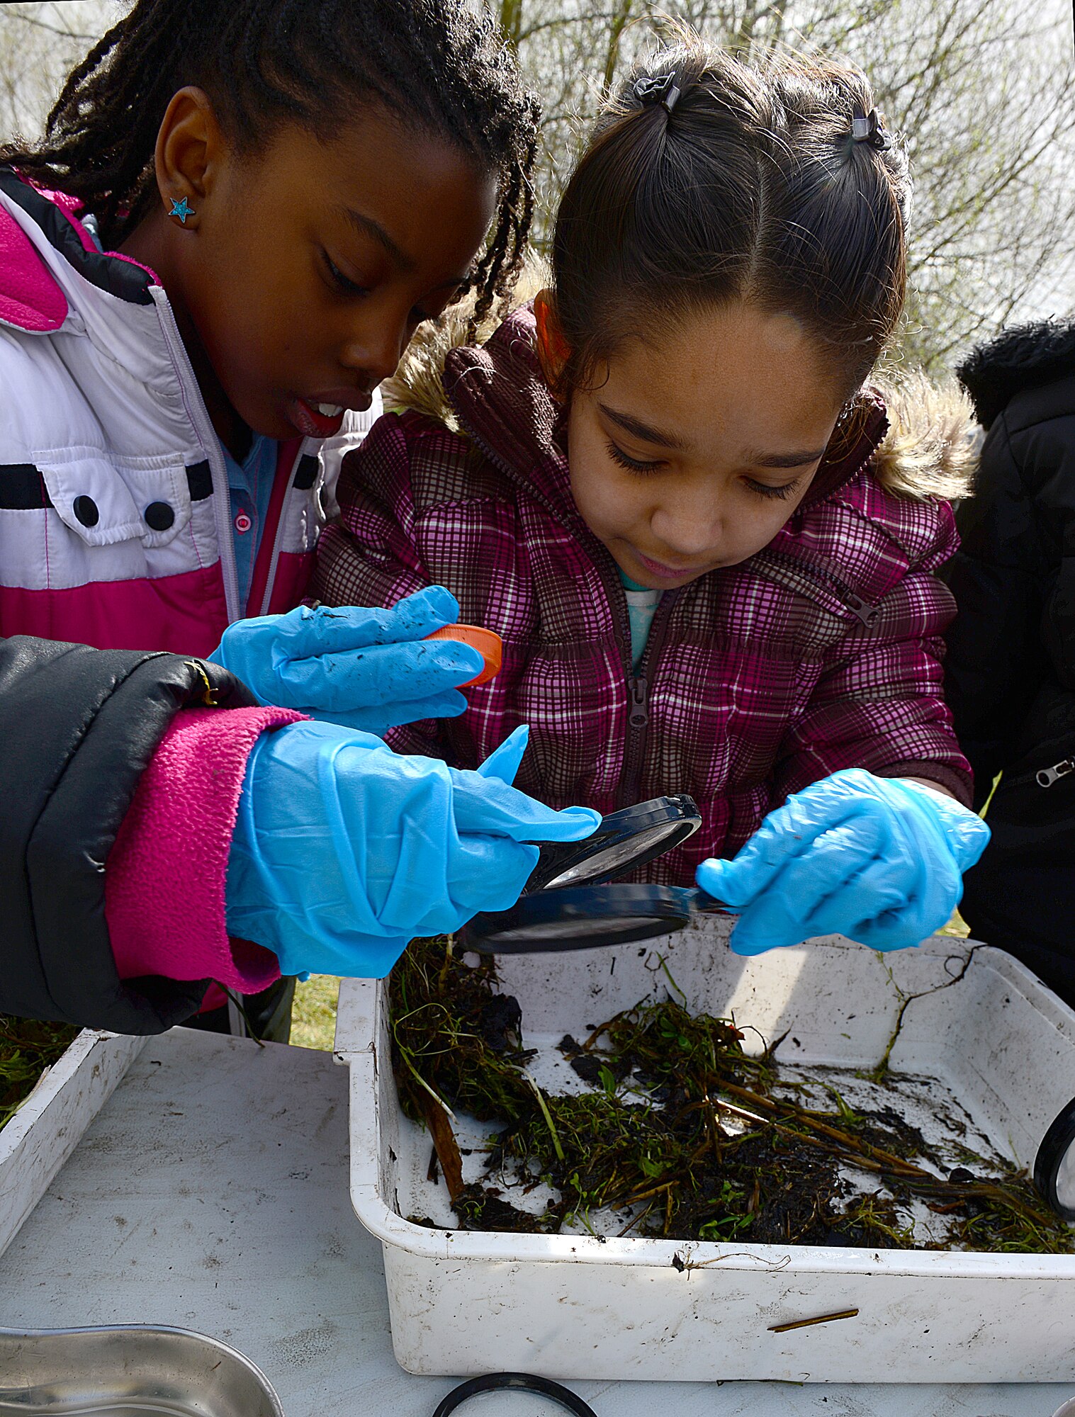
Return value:
[(105, 870), (105, 920), (121, 979), (217, 979), (258, 993), (277, 956), (228, 939), (224, 886), (247, 758), (289, 708), (184, 708), (128, 808)]

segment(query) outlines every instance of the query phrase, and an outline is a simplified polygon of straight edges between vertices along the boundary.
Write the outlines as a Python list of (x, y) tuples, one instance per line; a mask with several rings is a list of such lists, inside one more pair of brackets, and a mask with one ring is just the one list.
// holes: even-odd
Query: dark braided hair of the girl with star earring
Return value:
[(539, 103), (485, 7), (465, 0), (136, 0), (68, 75), (44, 140), (0, 162), (78, 197), (108, 247), (156, 200), (165, 111), (203, 88), (240, 152), (284, 123), (330, 139), (356, 103), (447, 139), (499, 179), (499, 207), (474, 272), (475, 320), (506, 298), (533, 213)]

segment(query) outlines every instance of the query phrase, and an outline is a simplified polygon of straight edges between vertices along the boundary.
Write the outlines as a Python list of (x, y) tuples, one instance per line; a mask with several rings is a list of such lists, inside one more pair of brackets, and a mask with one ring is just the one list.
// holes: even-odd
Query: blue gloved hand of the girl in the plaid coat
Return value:
[(848, 768), (796, 792), (735, 860), (702, 862), (696, 880), (742, 911), (739, 955), (814, 935), (905, 949), (949, 922), (987, 842), (981, 818), (952, 798)]

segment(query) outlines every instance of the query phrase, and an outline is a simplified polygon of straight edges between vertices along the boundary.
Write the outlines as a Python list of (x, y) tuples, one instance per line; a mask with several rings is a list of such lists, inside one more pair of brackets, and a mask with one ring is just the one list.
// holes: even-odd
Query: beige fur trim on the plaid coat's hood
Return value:
[[(532, 298), (542, 283), (532, 272), (516, 296)], [(384, 408), (414, 410), (459, 432), (445, 390), (445, 363), (452, 350), (484, 344), (496, 330), (495, 319), (486, 319), (477, 336), (469, 324), (471, 306), (461, 303), (420, 330), (396, 374), (381, 385)], [(867, 393), (879, 395), (888, 412), (888, 431), (874, 453), (878, 482), (902, 497), (969, 496), (977, 466), (976, 427), (971, 402), (959, 384), (935, 384), (915, 371), (898, 378), (875, 376)]]

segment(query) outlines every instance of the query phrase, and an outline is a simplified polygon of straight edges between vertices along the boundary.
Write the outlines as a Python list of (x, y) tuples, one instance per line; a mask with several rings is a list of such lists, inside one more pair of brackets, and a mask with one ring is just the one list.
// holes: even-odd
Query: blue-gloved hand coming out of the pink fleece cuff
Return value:
[(509, 786), (526, 728), (477, 772), (403, 757), (366, 733), (294, 723), (247, 762), (227, 879), (228, 934), (284, 973), (381, 978), (414, 935), (513, 905), (538, 862), (526, 842), (577, 842), (600, 813)]

